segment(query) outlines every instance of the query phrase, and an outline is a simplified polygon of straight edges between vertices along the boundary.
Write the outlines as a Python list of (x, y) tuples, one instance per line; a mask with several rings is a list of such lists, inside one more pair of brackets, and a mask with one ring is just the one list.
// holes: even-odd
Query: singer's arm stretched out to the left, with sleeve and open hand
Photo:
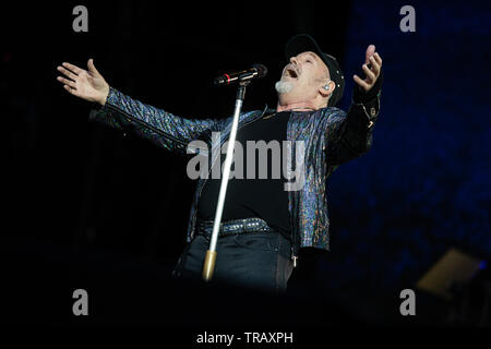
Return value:
[(224, 120), (190, 120), (145, 105), (107, 84), (88, 60), (88, 71), (70, 63), (58, 67), (64, 89), (99, 107), (91, 111), (91, 119), (117, 129), (132, 128), (136, 134), (169, 151), (187, 153), (188, 144), (201, 139), (206, 131), (219, 131)]

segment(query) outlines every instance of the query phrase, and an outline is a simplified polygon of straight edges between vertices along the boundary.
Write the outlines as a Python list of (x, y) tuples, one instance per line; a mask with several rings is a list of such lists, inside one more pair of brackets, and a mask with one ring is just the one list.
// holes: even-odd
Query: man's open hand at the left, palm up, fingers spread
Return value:
[(95, 68), (93, 59), (88, 60), (87, 69), (88, 71), (64, 62), (57, 68), (64, 77), (58, 76), (57, 80), (70, 94), (104, 106), (109, 94), (109, 84)]

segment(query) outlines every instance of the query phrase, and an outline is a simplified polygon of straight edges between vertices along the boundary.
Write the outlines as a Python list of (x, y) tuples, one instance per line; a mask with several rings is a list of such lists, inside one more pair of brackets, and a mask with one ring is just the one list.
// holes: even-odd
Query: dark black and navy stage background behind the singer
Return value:
[[(2, 10), (2, 321), (199, 330), (482, 324), (486, 263), (471, 285), (472, 306), (457, 321), (448, 320), (454, 303), (422, 291), (417, 316), (398, 309), (400, 290), (416, 289), (450, 248), (491, 257), (489, 7), (265, 3), (67, 1)], [(88, 33), (72, 29), (77, 4), (88, 9)], [(399, 29), (405, 4), (416, 9), (415, 33)], [(298, 33), (342, 62), (345, 110), (367, 46), (384, 59), (373, 147), (328, 183), (332, 252), (303, 251), (287, 297), (176, 284), (170, 272), (194, 189), (187, 159), (88, 123), (89, 104), (65, 93), (56, 67), (85, 68), (94, 58), (106, 81), (133, 98), (185, 118), (225, 118), (235, 88), (214, 88), (213, 77), (263, 63), (268, 75), (249, 88), (243, 108), (274, 108), (283, 48)], [(77, 288), (89, 294), (85, 318), (72, 315)], [(212, 313), (209, 302), (218, 304)]]

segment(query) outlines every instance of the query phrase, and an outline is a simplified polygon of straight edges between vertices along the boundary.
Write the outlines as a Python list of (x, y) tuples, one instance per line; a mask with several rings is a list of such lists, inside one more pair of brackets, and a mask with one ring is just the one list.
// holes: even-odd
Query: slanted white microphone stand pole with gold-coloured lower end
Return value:
[(233, 111), (233, 121), (230, 130), (230, 136), (228, 139), (227, 156), (225, 157), (224, 172), (221, 177), (220, 191), (218, 194), (218, 203), (216, 205), (215, 220), (213, 221), (212, 239), (209, 241), (209, 248), (206, 251), (206, 256), (203, 265), (202, 277), (205, 281), (209, 281), (212, 279), (213, 272), (215, 270), (216, 242), (218, 239), (218, 230), (221, 222), (221, 213), (224, 212), (224, 202), (225, 194), (227, 192), (228, 178), (230, 176), (231, 160), (233, 157), (233, 146), (236, 144), (237, 128), (239, 125), (239, 116), (246, 96), (246, 87), (250, 83), (250, 80), (240, 80), (239, 87), (237, 89), (236, 110)]

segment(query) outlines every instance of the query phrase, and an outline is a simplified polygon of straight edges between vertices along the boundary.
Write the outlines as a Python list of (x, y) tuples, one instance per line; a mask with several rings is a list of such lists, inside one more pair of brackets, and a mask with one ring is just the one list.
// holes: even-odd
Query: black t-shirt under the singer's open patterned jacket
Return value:
[[(283, 141), (287, 141), (287, 123), (289, 116), (289, 111), (265, 116), (237, 131), (236, 141), (242, 145), (243, 149), (243, 161), (241, 161), (243, 164), (243, 171), (239, 171), (239, 173), (243, 173), (243, 179), (239, 179), (236, 176), (236, 178), (229, 180), (221, 221), (258, 217), (265, 220), (271, 228), (277, 230), (285, 237), (290, 238), (288, 191), (284, 188), (286, 179), (284, 176), (283, 164)], [(256, 146), (260, 146), (260, 143), (258, 143), (259, 141), (264, 141), (266, 145), (271, 145), (272, 148), (276, 149), (267, 149), (266, 179), (260, 179), (260, 152), (258, 152), (258, 149), (254, 151), (255, 173), (252, 169), (250, 169), (251, 173), (248, 173), (248, 156), (252, 156), (253, 152), (250, 149), (248, 155), (247, 141), (256, 142)], [(274, 142), (270, 143), (271, 141)], [(250, 147), (253, 148), (253, 146)], [(279, 154), (277, 152), (278, 148)], [(273, 159), (273, 155), (279, 156), (279, 163), (278, 158)], [(221, 168), (225, 164), (225, 157), (226, 154), (221, 154)], [(251, 160), (251, 158), (249, 159)], [(236, 160), (238, 160), (237, 156), (232, 160), (231, 171), (237, 171), (239, 169)], [(273, 171), (273, 163), (276, 164), (275, 171)], [(277, 178), (278, 164), (279, 178)], [(264, 171), (264, 169), (262, 169), (262, 171)], [(209, 178), (204, 185), (197, 207), (199, 219), (213, 220), (215, 218), (220, 182), (220, 179)]]

